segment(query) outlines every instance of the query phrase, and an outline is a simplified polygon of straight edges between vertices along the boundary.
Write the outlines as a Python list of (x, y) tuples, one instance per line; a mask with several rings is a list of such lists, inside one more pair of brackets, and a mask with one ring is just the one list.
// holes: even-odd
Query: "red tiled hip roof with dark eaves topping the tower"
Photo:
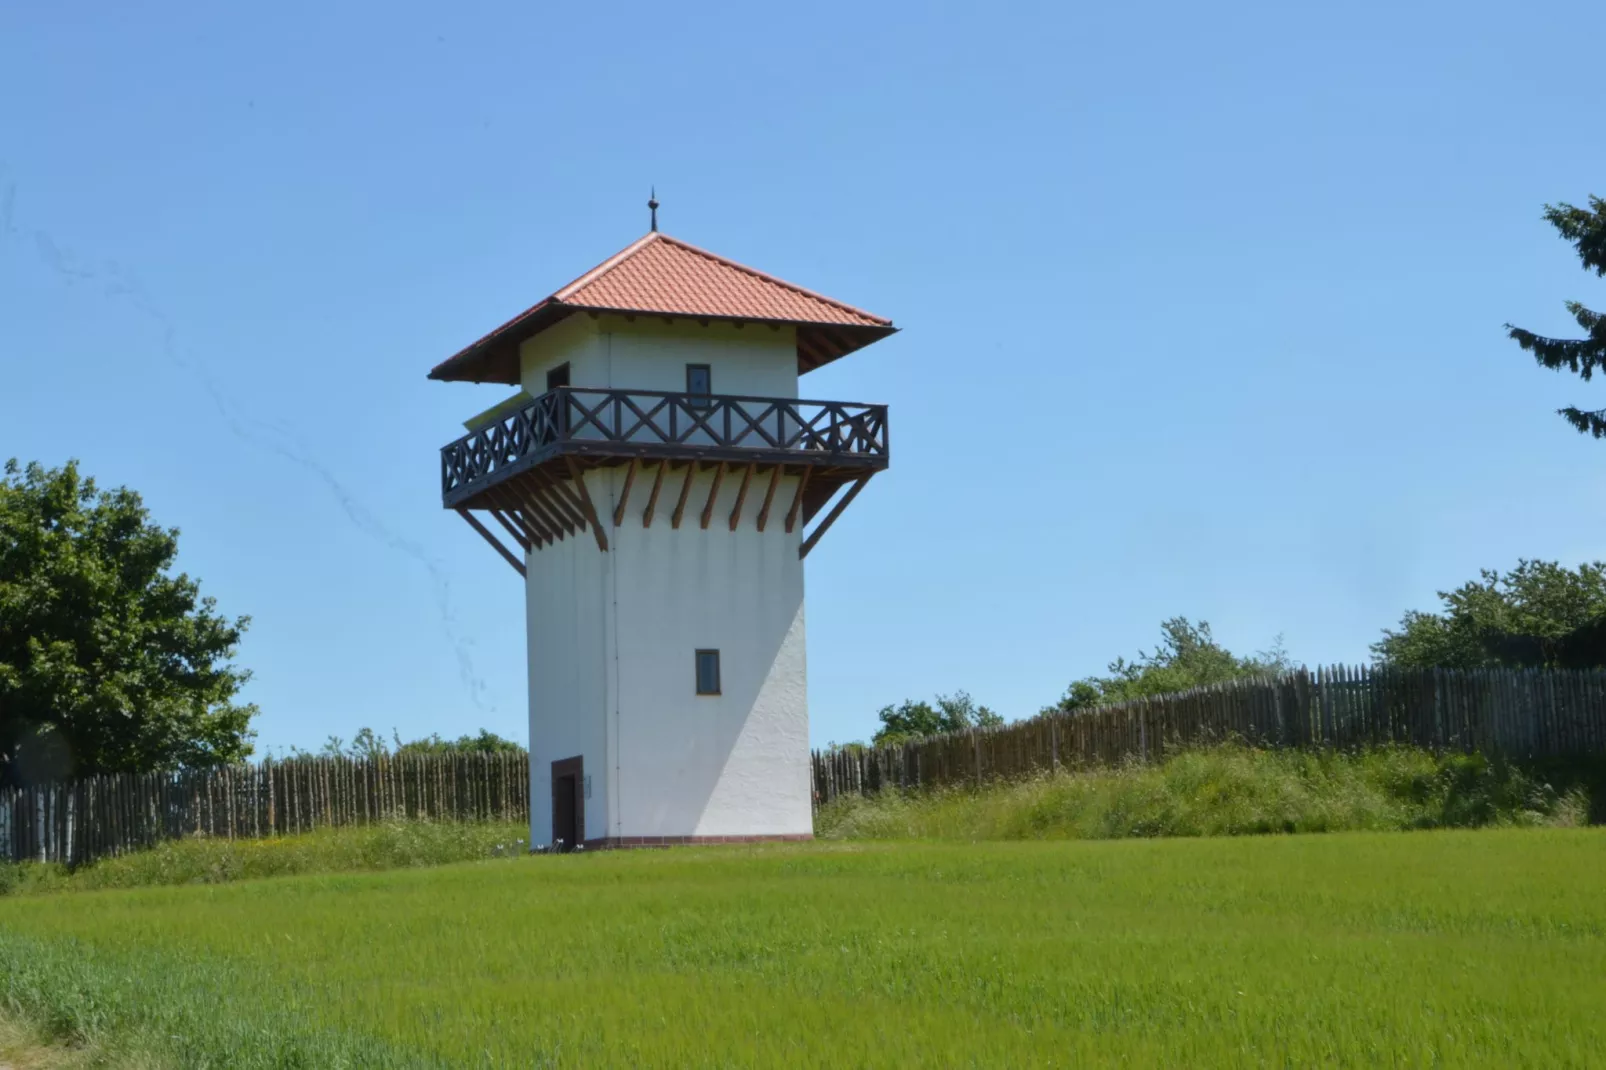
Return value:
[(652, 231), (448, 357), (429, 378), (516, 384), (519, 344), (575, 310), (792, 323), (800, 374), (896, 331), (891, 320)]

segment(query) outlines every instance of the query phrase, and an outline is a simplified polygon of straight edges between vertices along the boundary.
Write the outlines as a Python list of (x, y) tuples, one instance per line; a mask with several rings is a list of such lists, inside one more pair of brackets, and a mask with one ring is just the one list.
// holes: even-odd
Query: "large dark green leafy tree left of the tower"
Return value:
[(0, 784), (241, 762), (254, 705), (228, 620), (185, 574), (178, 530), (77, 463), (0, 479)]

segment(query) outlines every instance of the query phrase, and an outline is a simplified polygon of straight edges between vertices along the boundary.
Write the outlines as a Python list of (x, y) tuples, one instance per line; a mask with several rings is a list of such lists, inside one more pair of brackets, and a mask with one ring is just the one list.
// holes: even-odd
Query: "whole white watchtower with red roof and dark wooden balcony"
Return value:
[(430, 373), (520, 387), (442, 450), (442, 498), (525, 577), (532, 845), (809, 839), (803, 557), (888, 440), (798, 376), (895, 328), (652, 209)]

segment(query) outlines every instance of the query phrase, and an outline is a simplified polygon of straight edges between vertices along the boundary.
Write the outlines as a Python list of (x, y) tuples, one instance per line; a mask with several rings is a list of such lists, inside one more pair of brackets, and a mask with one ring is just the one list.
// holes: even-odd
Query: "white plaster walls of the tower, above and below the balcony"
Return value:
[[(715, 394), (797, 397), (792, 328), (575, 313), (520, 349), (525, 390), (543, 394), (565, 360), (577, 387), (681, 392), (686, 365), (707, 363)], [(797, 480), (782, 480), (760, 533), (769, 476), (755, 476), (732, 532), (740, 472), (728, 474), (702, 530), (705, 472), (673, 530), (670, 474), (642, 529), (652, 474), (638, 472), (620, 527), (625, 468), (588, 474), (609, 553), (581, 533), (527, 556), (530, 842), (551, 840), (551, 763), (573, 755), (591, 778), (586, 839), (806, 834), (801, 530), (785, 532)], [(723, 694), (699, 696), (695, 651), (710, 647)]]

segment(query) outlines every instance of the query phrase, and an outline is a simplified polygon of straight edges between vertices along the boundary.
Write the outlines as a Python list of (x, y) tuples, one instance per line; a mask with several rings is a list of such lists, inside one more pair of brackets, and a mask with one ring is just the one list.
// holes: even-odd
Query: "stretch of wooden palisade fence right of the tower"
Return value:
[(814, 802), (1152, 760), (1224, 739), (1606, 755), (1606, 670), (1320, 668), (887, 747), (814, 752)]

